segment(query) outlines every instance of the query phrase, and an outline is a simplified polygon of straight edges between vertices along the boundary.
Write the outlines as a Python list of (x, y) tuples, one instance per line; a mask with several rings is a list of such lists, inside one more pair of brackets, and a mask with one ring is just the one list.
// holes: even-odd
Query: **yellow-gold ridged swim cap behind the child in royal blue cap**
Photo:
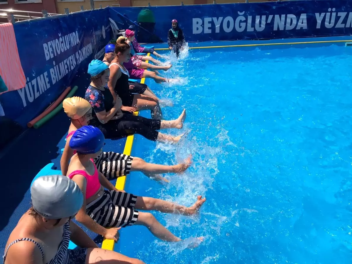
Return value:
[(71, 98), (66, 98), (62, 102), (62, 106), (64, 108), (65, 113), (70, 117), (71, 119), (78, 119), (83, 117), (85, 115), (90, 107), (90, 103), (78, 96), (74, 96)]

